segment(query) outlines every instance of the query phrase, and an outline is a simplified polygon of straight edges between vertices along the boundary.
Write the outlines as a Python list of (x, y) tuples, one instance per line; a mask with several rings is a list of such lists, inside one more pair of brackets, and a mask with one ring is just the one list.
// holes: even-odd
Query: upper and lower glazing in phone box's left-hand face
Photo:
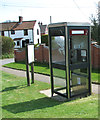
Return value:
[[(54, 90), (66, 94), (66, 72), (62, 66), (65, 66), (65, 38), (64, 36), (52, 36), (52, 63), (53, 66), (53, 82)], [(59, 68), (59, 69), (58, 69)]]

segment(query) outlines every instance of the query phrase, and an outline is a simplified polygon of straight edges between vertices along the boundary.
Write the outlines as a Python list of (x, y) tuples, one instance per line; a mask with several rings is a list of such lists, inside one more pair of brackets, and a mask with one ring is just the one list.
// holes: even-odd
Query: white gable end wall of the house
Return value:
[[(37, 35), (37, 29), (39, 30), (39, 35)], [(40, 27), (39, 27), (38, 21), (36, 21), (34, 26), (34, 44), (38, 43), (38, 39), (39, 39), (39, 43), (41, 43)]]

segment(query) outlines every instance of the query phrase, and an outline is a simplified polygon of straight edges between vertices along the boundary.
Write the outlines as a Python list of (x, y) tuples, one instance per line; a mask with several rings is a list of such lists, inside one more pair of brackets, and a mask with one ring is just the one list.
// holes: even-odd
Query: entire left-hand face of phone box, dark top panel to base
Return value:
[(52, 93), (66, 96), (66, 67), (65, 67), (65, 27), (51, 28), (51, 70)]

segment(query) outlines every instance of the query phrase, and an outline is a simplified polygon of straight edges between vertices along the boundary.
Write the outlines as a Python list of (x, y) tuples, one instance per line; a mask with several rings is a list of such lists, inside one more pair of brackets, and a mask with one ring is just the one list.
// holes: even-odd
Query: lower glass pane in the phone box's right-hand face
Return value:
[(87, 69), (76, 69), (71, 71), (70, 78), (72, 96), (88, 91)]

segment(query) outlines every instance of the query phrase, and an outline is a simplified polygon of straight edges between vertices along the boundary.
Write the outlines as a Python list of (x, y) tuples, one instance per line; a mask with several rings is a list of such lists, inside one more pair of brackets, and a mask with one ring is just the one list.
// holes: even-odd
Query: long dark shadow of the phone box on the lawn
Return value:
[(39, 98), (36, 100), (27, 101), (27, 102), (7, 105), (2, 108), (6, 109), (7, 111), (11, 113), (16, 114), (16, 113), (21, 113), (21, 112), (33, 111), (37, 109), (49, 108), (49, 107), (53, 107), (53, 106), (56, 106), (62, 103), (63, 102), (54, 101), (48, 97), (44, 97), (44, 98)]

